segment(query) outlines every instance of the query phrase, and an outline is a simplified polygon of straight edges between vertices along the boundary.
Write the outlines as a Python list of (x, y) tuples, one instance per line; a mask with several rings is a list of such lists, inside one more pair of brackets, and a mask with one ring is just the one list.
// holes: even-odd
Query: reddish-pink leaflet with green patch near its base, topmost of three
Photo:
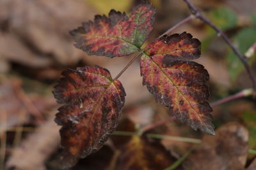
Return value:
[(106, 15), (96, 15), (94, 21), (84, 22), (70, 33), (75, 46), (88, 55), (121, 57), (129, 55), (143, 45), (152, 31), (155, 9), (150, 5), (134, 8), (130, 17), (120, 11), (111, 10)]

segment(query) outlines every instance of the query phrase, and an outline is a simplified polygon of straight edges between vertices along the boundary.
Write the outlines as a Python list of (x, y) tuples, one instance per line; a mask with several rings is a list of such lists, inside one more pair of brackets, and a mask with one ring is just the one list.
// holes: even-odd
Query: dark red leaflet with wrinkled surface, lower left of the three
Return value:
[(63, 167), (99, 150), (118, 124), (125, 91), (99, 66), (67, 69), (54, 88), (59, 108), (55, 121), (62, 125)]

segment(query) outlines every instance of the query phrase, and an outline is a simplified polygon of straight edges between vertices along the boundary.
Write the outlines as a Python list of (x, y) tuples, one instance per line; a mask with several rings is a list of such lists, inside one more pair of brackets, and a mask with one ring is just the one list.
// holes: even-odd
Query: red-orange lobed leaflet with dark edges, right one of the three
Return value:
[(141, 57), (143, 85), (158, 103), (193, 129), (214, 134), (209, 106), (209, 74), (191, 61), (200, 57), (200, 41), (191, 34), (173, 34), (155, 39)]

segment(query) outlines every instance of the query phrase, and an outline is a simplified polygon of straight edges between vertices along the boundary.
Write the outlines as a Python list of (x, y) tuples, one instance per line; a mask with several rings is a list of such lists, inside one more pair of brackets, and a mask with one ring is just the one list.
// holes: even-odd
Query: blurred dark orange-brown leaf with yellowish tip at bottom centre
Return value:
[(164, 169), (175, 162), (159, 143), (133, 136), (118, 156), (116, 170), (157, 170)]

